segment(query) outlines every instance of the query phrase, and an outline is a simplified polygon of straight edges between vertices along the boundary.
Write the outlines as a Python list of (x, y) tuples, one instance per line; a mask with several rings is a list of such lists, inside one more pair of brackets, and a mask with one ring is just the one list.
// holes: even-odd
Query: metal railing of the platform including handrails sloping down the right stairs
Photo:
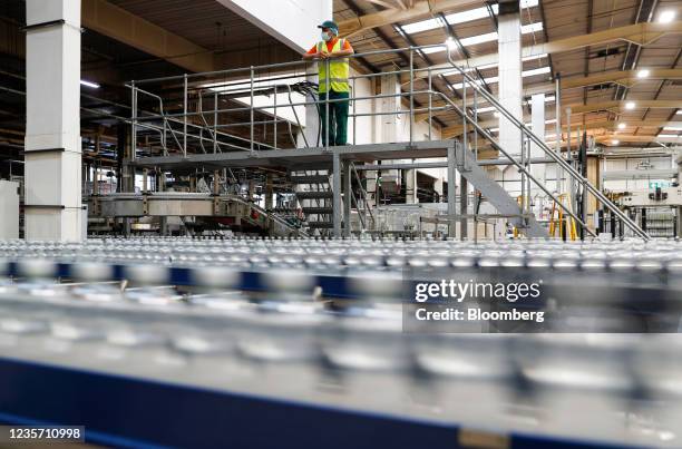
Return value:
[[(441, 47), (447, 55), (449, 66), (439, 67), (415, 67), (415, 56), (423, 56), (425, 50)], [(583, 230), (594, 236), (594, 232), (587, 227), (582, 217), (578, 217), (571, 206), (559, 201), (561, 192), (552, 192), (539, 179), (532, 175), (530, 146), (539, 148), (553, 163), (557, 164), (557, 172), (566, 176), (569, 182), (577, 182), (582, 187), (583, 195), (592, 194), (605, 208), (616, 215), (635, 235), (649, 240), (647, 234), (642, 231), (626, 214), (617, 208), (597, 187), (583, 177), (577, 169), (568, 163), (561, 153), (551, 149), (543, 138), (535, 135), (522, 120), (515, 117), (509, 110), (485, 88), (481, 87), (483, 80), (475, 79), (470, 69), (459, 67), (450, 55), (449, 48), (445, 45), (407, 47), (390, 50), (377, 50), (345, 57), (347, 59), (381, 57), (396, 53), (409, 55), (409, 67), (398, 68), (389, 71), (358, 74), (349, 78), (351, 91), (348, 99), (320, 99), (316, 97), (314, 82), (318, 76), (314, 70), (314, 61), (293, 61), (264, 66), (251, 66), (247, 68), (236, 68), (204, 74), (192, 74), (176, 77), (154, 78), (146, 80), (135, 80), (127, 85), (131, 91), (131, 134), (133, 134), (133, 159), (139, 157), (144, 152), (139, 150), (140, 138), (144, 146), (149, 148), (150, 154), (158, 155), (182, 155), (187, 157), (192, 153), (208, 153), (205, 144), (210, 144), (213, 153), (230, 150), (260, 152), (281, 148), (323, 148), (329, 150), (330, 143), (330, 107), (337, 103), (349, 101), (349, 121), (352, 124), (352, 145), (358, 144), (381, 144), (405, 141), (412, 144), (415, 140), (431, 140), (438, 133), (435, 133), (433, 124), (439, 120), (437, 115), (441, 113), (456, 113), (461, 119), (461, 145), (465, 149), (470, 149), (476, 156), (480, 150), (479, 137), (488, 145), (498, 150), (505, 158), (515, 165), (520, 174), (522, 183), (522, 213), (530, 212), (530, 198), (533, 196), (532, 185), (544, 192), (548, 198), (556, 202), (564, 213), (578, 223)], [(330, 60), (327, 64), (327, 72), (330, 74)], [(274, 74), (274, 75), (273, 75)], [(461, 79), (461, 94), (457, 94), (452, 82), (445, 77), (456, 76)], [(372, 95), (369, 84), (378, 80), (389, 80), (406, 86), (391, 91)], [(367, 94), (360, 86), (366, 82)], [(367, 82), (369, 81), (369, 84)], [(446, 84), (445, 90), (439, 90), (438, 82)], [(329, 79), (327, 80), (329, 84)], [(418, 88), (417, 84), (423, 85)], [(154, 94), (154, 86), (165, 92), (165, 98)], [(144, 87), (144, 88), (143, 88)], [(328, 86), (328, 91), (329, 86)], [(280, 94), (285, 94), (286, 100), (280, 101)], [(303, 99), (298, 100), (293, 95), (299, 94)], [(182, 95), (181, 95), (182, 94)], [(451, 96), (457, 94), (460, 98), (455, 101)], [(174, 96), (175, 95), (175, 96)], [(150, 98), (157, 104), (149, 111), (140, 106), (140, 99)], [(270, 99), (270, 97), (272, 97)], [(472, 97), (472, 98), (471, 98)], [(440, 101), (435, 101), (439, 99)], [(263, 101), (265, 99), (265, 101)], [(420, 101), (421, 100), (421, 101)], [(191, 105), (191, 101), (194, 104)], [(257, 104), (260, 101), (260, 104)], [(402, 103), (407, 108), (402, 108)], [(179, 105), (178, 105), (179, 103)], [(372, 108), (372, 103), (381, 107)], [(172, 105), (172, 106), (169, 106)], [(360, 108), (361, 105), (370, 105), (367, 110)], [(481, 106), (486, 106), (487, 111), (497, 111), (500, 117), (520, 131), (520, 158), (513, 155), (507, 148), (503, 148), (499, 141), (479, 121)], [(308, 108), (308, 110), (306, 110)], [(306, 111), (306, 123), (301, 120), (300, 113)], [(325, 108), (322, 115), (321, 108)], [(146, 110), (145, 110), (146, 109)], [(379, 109), (379, 110), (376, 110)], [(143, 111), (144, 110), (144, 111)], [(138, 111), (142, 111), (138, 114)], [(290, 113), (290, 114), (286, 114)], [(324, 116), (325, 126), (316, 117)], [(377, 117), (407, 117), (407, 131), (400, 137), (399, 129), (396, 127), (393, 134), (377, 138), (374, 136), (359, 138), (358, 130), (367, 127), (372, 128), (371, 120)], [(417, 137), (416, 117), (423, 119), (426, 126), (420, 133), (422, 137)], [(310, 120), (315, 120), (310, 123)], [(558, 121), (558, 120), (557, 120)], [(288, 134), (288, 141), (279, 138), (284, 126)], [(376, 127), (376, 125), (374, 125)], [(308, 128), (308, 133), (305, 129)], [(311, 128), (316, 131), (311, 133)], [(324, 138), (321, 138), (320, 128), (324, 129)], [(561, 128), (559, 128), (561, 129)], [(316, 135), (316, 136), (315, 136)], [(322, 140), (322, 145), (320, 145)], [(558, 138), (557, 138), (558, 140)], [(558, 148), (561, 152), (561, 148)], [(355, 174), (357, 176), (357, 174)], [(367, 208), (367, 207), (366, 207)], [(362, 219), (366, 222), (367, 216)], [(363, 223), (363, 226), (366, 224)]]

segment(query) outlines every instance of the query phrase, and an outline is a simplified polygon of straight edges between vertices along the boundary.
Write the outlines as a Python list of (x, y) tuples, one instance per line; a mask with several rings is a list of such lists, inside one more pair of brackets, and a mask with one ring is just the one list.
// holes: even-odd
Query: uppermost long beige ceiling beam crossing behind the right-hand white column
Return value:
[[(597, 46), (618, 40), (635, 42), (640, 46), (646, 46), (665, 35), (673, 33), (682, 33), (682, 21), (670, 23), (644, 22), (629, 25), (625, 27), (611, 28), (604, 31), (592, 32), (590, 35), (573, 36), (569, 38), (557, 39), (551, 42), (524, 47), (522, 49), (522, 57), (528, 58), (545, 53), (558, 53), (563, 51), (576, 50), (587, 46)], [(455, 61), (455, 64), (460, 67), (494, 66), (498, 62), (499, 55), (497, 52)], [(449, 62), (446, 62), (436, 65), (431, 67), (431, 69), (452, 70), (452, 66)], [(419, 78), (426, 78), (427, 74), (422, 72), (417, 76)]]

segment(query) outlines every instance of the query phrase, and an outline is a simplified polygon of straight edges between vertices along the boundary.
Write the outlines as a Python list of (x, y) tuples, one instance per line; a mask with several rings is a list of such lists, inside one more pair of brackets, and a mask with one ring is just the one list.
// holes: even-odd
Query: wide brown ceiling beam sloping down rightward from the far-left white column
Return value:
[(188, 71), (216, 70), (212, 50), (199, 47), (106, 0), (82, 0), (82, 26), (165, 59)]

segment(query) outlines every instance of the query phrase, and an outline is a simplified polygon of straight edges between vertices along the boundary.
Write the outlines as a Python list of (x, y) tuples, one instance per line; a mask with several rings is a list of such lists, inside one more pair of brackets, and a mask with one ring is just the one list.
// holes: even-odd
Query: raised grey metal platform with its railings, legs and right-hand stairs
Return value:
[[(448, 50), (447, 46), (445, 47), (444, 50)], [(422, 51), (422, 48), (409, 47), (371, 53), (396, 51), (407, 51), (412, 57)], [(362, 57), (362, 55), (353, 55), (352, 58), (359, 57)], [(558, 191), (571, 191), (573, 196), (579, 194), (583, 198), (587, 198), (588, 195), (594, 196), (598, 204), (611, 211), (626, 227), (632, 230), (634, 235), (645, 240), (649, 238), (636, 223), (620, 211), (598, 187), (593, 185), (571, 162), (564, 158), (561, 148), (551, 148), (544, 137), (535, 135), (523, 120), (507, 110), (495, 96), (481, 87), (480, 82), (465, 68), (459, 67), (449, 51), (447, 58), (449, 62), (448, 76), (461, 78), (464, 87), (461, 98), (455, 98), (452, 92), (436, 88), (432, 85), (432, 77), (439, 75), (439, 71), (431, 72), (430, 69), (403, 68), (394, 71), (350, 77), (349, 81), (353, 86), (352, 94), (349, 97), (349, 106), (352, 107), (349, 114), (349, 120), (352, 121), (352, 131), (347, 137), (347, 141), (353, 145), (337, 147), (320, 147), (319, 143), (329, 141), (330, 136), (321, 136), (321, 133), (315, 129), (314, 119), (311, 123), (300, 120), (300, 115), (303, 114), (304, 109), (314, 116), (315, 108), (319, 111), (320, 108), (329, 108), (330, 103), (338, 101), (320, 99), (314, 92), (314, 86), (302, 82), (301, 78), (304, 77), (304, 74), (314, 72), (310, 61), (252, 66), (210, 74), (130, 81), (127, 87), (130, 88), (131, 94), (130, 124), (131, 141), (134, 144), (131, 150), (126, 155), (124, 170), (160, 168), (186, 174), (196, 168), (331, 169), (333, 173), (331, 191), (334, 193), (333, 219), (331, 222), (333, 223), (333, 235), (340, 237), (350, 235), (348, 224), (350, 223), (350, 208), (352, 206), (349, 207), (348, 204), (343, 204), (342, 195), (350, 192), (348, 192), (348, 185), (342, 186), (341, 176), (341, 172), (345, 173), (350, 164), (357, 162), (377, 164), (381, 160), (398, 159), (412, 159), (415, 162), (416, 159), (447, 157), (449, 163), (448, 179), (452, 180), (456, 178), (456, 172), (461, 172), (460, 164), (454, 160), (455, 156), (461, 153), (455, 152), (456, 145), (460, 145), (466, 152), (476, 154), (477, 157), (479, 150), (491, 148), (494, 153), (491, 156), (494, 158), (504, 156), (512, 166), (517, 168), (520, 177), (519, 205), (510, 204), (509, 198), (505, 197), (496, 204), (500, 206), (504, 203), (504, 211), (498, 212), (508, 214), (514, 209), (522, 209), (520, 213), (525, 215), (532, 209), (532, 196), (539, 192), (544, 194), (548, 202), (556, 204), (564, 214), (574, 219), (585, 234), (594, 236), (593, 230), (587, 226), (586, 207), (583, 207), (581, 216), (578, 216), (573, 212), (573, 207), (568, 207), (567, 204), (564, 204), (565, 202), (555, 195), (554, 187), (546, 186), (542, 179), (537, 179), (532, 174), (530, 149), (533, 147), (539, 150), (538, 155), (542, 158), (548, 158), (552, 164), (556, 164), (557, 173), (561, 174), (559, 177), (563, 179), (562, 184), (564, 184), (557, 187)], [(329, 64), (329, 60), (324, 64)], [(261, 90), (263, 86), (257, 86), (259, 79), (272, 78), (273, 70), (279, 72), (276, 78), (273, 79), (273, 81), (276, 81), (274, 87), (267, 86), (265, 90)], [(201, 77), (201, 84), (197, 82), (197, 77)], [(241, 79), (238, 79), (240, 77)], [(400, 79), (406, 88), (397, 92), (376, 95), (360, 94), (354, 88), (355, 82), (362, 78), (369, 79), (371, 82), (379, 80), (383, 82), (381, 77)], [(210, 79), (215, 82), (206, 84), (205, 81)], [(393, 82), (396, 79), (389, 81)], [(177, 104), (178, 97), (173, 97), (168, 90), (162, 88), (164, 84), (175, 84), (177, 86), (175, 94), (181, 94), (182, 90), (182, 104)], [(469, 88), (468, 100), (467, 87)], [(292, 99), (292, 91), (298, 91), (304, 98)], [(282, 101), (282, 98), (277, 101), (280, 92), (288, 92), (286, 100)], [(242, 101), (241, 105), (234, 105), (230, 101), (231, 98), (244, 97), (246, 94), (250, 94), (250, 101)], [(255, 105), (253, 98), (256, 95), (272, 97), (272, 104), (269, 101), (265, 105)], [(459, 95), (457, 96), (459, 97)], [(359, 110), (357, 107), (358, 103), (376, 101), (377, 99), (390, 99), (391, 101), (387, 103), (396, 105), (409, 103), (409, 108), (387, 107), (367, 113)], [(147, 105), (146, 108), (154, 104), (155, 109), (143, 109), (138, 100), (144, 100), (144, 104)], [(277, 108), (279, 110), (291, 110), (293, 118), (281, 117), (277, 115)], [(300, 110), (296, 111), (296, 108)], [(486, 113), (497, 113), (501, 120), (508, 123), (506, 126), (518, 129), (520, 135), (518, 147), (516, 145), (505, 145), (503, 147), (499, 139), (493, 135), (488, 124), (485, 120), (479, 121), (478, 113), (484, 110)], [(461, 129), (454, 129), (452, 133), (445, 134), (457, 139), (442, 140), (442, 135), (436, 135), (431, 131), (433, 120), (438, 121), (437, 116), (444, 113), (455, 114), (455, 116), (461, 118)], [(371, 120), (383, 116), (392, 117), (396, 124), (398, 120), (405, 120), (403, 133), (398, 133), (398, 129), (396, 129), (396, 133), (386, 136), (388, 141), (358, 145), (357, 129), (370, 127)], [(426, 131), (417, 127), (422, 121), (428, 124)], [(279, 137), (282, 129), (289, 135), (289, 138), (284, 140), (282, 140), (282, 136)], [(559, 123), (557, 123), (557, 129), (561, 130)], [(236, 130), (242, 135), (242, 145), (237, 145), (234, 141), (235, 136), (228, 134), (228, 131), (236, 133)], [(140, 139), (145, 143), (142, 147), (138, 146)], [(362, 139), (366, 141), (364, 137)], [(397, 139), (403, 139), (405, 141), (397, 143), (394, 141)], [(304, 148), (283, 148), (289, 146), (304, 146)], [(519, 154), (520, 158), (517, 160)], [(128, 179), (133, 179), (133, 177), (128, 176)], [(480, 191), (491, 185), (491, 182), (483, 177), (477, 176), (477, 179), (481, 185), (476, 186), (476, 188)], [(124, 189), (129, 192), (133, 188), (134, 186), (128, 185)], [(488, 191), (491, 188), (488, 188)], [(454, 189), (451, 191), (454, 192)], [(483, 192), (483, 194), (488, 197), (501, 197), (503, 195), (496, 195), (500, 194), (501, 191), (501, 188), (496, 188), (491, 195), (486, 195), (486, 192)], [(457, 211), (454, 204), (454, 194), (451, 195), (452, 197), (448, 198), (450, 206), (448, 215), (454, 216)], [(504, 196), (508, 195), (505, 194)], [(462, 196), (462, 198), (465, 197)], [(572, 201), (574, 199), (572, 198)], [(575, 201), (573, 203), (575, 204)], [(462, 203), (460, 205), (459, 215), (467, 215), (466, 207), (467, 204)], [(466, 230), (466, 222), (462, 224), (465, 225), (462, 230)], [(544, 230), (533, 223), (524, 223), (522, 227), (524, 233), (529, 236), (544, 234)], [(462, 233), (462, 237), (466, 237), (465, 234), (466, 232)], [(455, 235), (455, 226), (452, 225), (450, 225), (450, 235)]]

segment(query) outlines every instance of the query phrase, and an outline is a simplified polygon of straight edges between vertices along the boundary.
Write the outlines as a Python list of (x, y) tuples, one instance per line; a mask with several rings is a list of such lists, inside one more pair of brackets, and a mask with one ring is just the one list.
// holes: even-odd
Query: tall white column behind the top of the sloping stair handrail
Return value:
[[(518, 0), (501, 0), (498, 16), (499, 103), (523, 120), (522, 39)], [(520, 155), (520, 130), (499, 118), (499, 143), (512, 155)]]

